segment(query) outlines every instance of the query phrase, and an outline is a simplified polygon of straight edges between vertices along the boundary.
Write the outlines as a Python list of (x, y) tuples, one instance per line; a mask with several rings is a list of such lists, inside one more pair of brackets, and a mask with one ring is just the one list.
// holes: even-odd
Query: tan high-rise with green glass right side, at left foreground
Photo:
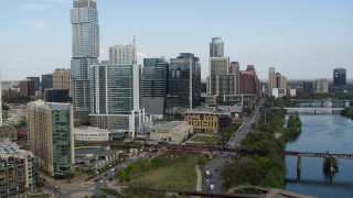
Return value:
[(31, 151), (35, 163), (51, 176), (73, 170), (73, 108), (69, 103), (29, 102)]

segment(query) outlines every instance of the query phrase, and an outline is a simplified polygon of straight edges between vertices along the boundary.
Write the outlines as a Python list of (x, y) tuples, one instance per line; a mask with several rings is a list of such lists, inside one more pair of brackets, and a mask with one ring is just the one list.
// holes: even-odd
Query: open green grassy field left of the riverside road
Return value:
[(173, 162), (147, 172), (133, 172), (130, 177), (131, 185), (149, 185), (156, 188), (195, 190), (197, 179), (195, 165), (200, 161), (207, 161), (204, 158), (203, 154), (167, 152), (159, 157), (165, 157)]

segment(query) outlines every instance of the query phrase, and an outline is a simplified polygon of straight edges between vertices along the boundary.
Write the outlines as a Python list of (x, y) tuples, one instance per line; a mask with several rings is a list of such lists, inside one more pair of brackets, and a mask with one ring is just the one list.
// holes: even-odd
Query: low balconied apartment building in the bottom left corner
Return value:
[(26, 197), (34, 188), (34, 156), (0, 139), (0, 197)]

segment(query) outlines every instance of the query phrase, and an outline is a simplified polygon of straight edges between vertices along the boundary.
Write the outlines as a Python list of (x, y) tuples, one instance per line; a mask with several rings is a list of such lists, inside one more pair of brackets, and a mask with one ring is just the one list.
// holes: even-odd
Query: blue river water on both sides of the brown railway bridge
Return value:
[[(300, 119), (301, 134), (287, 144), (287, 151), (353, 154), (351, 119), (339, 114), (303, 114)], [(322, 172), (322, 158), (301, 157), (298, 177), (297, 157), (287, 156), (286, 189), (314, 197), (353, 198), (353, 160), (338, 160), (339, 172), (332, 177)]]

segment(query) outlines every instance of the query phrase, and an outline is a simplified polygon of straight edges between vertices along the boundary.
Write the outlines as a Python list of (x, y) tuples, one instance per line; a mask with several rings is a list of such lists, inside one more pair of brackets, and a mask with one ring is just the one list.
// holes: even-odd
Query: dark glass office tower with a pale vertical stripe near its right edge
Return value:
[(167, 110), (192, 109), (201, 100), (201, 64), (191, 53), (170, 58), (168, 74)]

